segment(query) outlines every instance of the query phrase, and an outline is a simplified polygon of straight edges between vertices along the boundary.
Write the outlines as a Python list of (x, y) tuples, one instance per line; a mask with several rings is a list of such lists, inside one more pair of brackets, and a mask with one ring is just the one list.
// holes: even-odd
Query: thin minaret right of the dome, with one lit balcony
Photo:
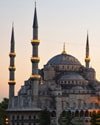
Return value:
[(85, 65), (86, 68), (89, 68), (90, 57), (89, 57), (89, 37), (87, 33), (87, 41), (86, 41), (86, 57), (85, 57)]

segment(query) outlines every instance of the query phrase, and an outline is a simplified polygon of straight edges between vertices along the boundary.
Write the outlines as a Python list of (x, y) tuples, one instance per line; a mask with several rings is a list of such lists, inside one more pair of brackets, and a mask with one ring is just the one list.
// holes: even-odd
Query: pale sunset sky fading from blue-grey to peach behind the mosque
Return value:
[[(34, 0), (0, 0), (0, 100), (8, 97), (9, 51), (12, 22), (16, 43), (16, 94), (31, 75)], [(100, 0), (37, 0), (39, 23), (39, 68), (66, 52), (84, 65), (87, 31), (90, 67), (100, 80)]]

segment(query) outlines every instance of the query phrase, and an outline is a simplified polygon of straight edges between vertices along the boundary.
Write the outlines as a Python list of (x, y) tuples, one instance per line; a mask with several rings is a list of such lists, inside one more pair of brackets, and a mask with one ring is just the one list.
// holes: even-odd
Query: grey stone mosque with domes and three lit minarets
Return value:
[(38, 64), (38, 18), (35, 6), (33, 19), (32, 73), (24, 81), (15, 96), (15, 39), (12, 27), (9, 66), (9, 106), (7, 109), (10, 125), (39, 125), (39, 113), (51, 113), (51, 125), (59, 125), (63, 111), (75, 115), (89, 116), (100, 109), (100, 82), (94, 68), (89, 66), (89, 36), (86, 39), (85, 66), (65, 50), (50, 58), (42, 69)]

